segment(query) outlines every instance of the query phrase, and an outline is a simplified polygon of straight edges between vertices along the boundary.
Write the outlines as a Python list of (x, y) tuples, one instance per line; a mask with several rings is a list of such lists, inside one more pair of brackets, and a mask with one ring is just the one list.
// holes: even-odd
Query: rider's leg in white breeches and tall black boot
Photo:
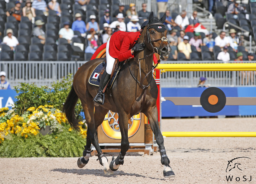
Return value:
[(108, 39), (107, 45), (106, 45), (106, 60), (107, 60), (107, 66), (106, 66), (106, 70), (103, 72), (101, 79), (100, 79), (100, 83), (99, 83), (99, 90), (98, 90), (98, 94), (96, 95), (94, 101), (102, 104), (104, 103), (103, 99), (104, 99), (104, 93), (103, 93), (103, 89), (105, 88), (105, 86), (108, 84), (109, 79), (110, 79), (110, 75), (113, 69), (113, 65), (115, 62), (115, 58), (111, 57), (108, 53), (109, 50), (109, 41), (110, 39)]

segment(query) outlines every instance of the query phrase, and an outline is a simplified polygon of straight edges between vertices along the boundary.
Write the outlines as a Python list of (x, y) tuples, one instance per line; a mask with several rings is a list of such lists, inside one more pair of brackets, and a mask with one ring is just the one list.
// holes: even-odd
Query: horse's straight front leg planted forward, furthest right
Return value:
[(148, 111), (145, 112), (145, 115), (148, 117), (150, 127), (155, 135), (157, 144), (160, 149), (161, 163), (164, 165), (164, 177), (175, 177), (175, 174), (169, 165), (170, 160), (167, 157), (166, 150), (164, 147), (164, 138), (158, 125), (157, 107), (155, 106), (154, 108), (148, 109)]

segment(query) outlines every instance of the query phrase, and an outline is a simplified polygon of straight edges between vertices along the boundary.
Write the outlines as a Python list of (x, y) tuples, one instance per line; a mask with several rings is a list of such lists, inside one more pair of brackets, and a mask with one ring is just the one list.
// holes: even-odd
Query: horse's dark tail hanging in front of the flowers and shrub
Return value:
[(63, 105), (62, 112), (65, 113), (65, 117), (69, 122), (70, 126), (74, 128), (76, 132), (80, 131), (79, 120), (75, 115), (75, 105), (78, 101), (78, 96), (75, 93), (74, 86), (72, 85), (71, 90), (66, 98), (66, 101)]

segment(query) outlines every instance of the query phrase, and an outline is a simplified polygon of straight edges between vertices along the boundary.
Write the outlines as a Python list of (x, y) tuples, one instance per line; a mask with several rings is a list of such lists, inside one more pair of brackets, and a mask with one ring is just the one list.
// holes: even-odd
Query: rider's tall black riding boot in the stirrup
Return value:
[(99, 82), (99, 90), (96, 97), (93, 99), (94, 102), (103, 105), (104, 104), (104, 93), (103, 89), (107, 85), (108, 81), (110, 79), (110, 74), (106, 72), (106, 70), (103, 72), (100, 82)]

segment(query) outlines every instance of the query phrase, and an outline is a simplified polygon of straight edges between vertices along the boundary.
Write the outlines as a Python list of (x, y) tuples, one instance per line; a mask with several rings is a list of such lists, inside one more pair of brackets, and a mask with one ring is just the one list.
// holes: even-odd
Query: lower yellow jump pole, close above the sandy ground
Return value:
[(165, 137), (256, 137), (256, 132), (162, 132)]

